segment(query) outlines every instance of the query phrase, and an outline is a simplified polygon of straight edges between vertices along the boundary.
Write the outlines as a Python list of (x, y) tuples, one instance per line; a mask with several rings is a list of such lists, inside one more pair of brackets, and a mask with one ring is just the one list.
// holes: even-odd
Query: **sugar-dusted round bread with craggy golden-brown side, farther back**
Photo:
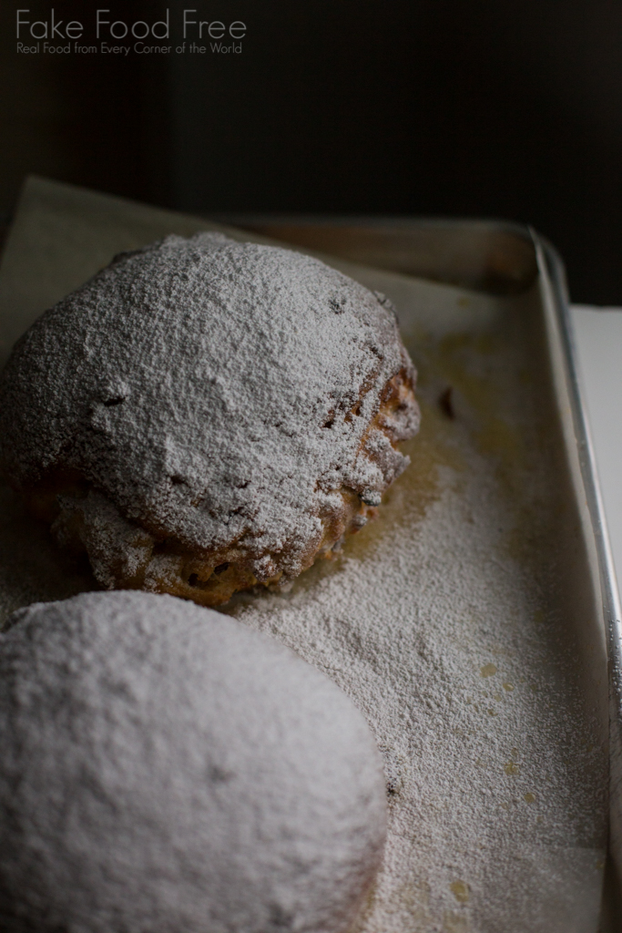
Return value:
[(390, 303), (315, 258), (200, 233), (118, 257), (0, 384), (0, 465), (106, 587), (207, 605), (284, 585), (408, 464)]

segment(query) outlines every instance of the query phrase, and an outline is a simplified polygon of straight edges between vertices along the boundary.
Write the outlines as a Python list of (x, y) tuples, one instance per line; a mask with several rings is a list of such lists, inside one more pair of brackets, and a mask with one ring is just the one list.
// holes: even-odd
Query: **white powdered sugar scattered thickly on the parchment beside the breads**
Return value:
[[(599, 889), (602, 839), (592, 820), (602, 801), (588, 733), (575, 734), (578, 698), (561, 678), (550, 682), (552, 652), (519, 568), (496, 562), (477, 514), (490, 491), (474, 482), (466, 493), (448, 482), (412, 533), (407, 508), (373, 556), (239, 613), (345, 689), (384, 754), (392, 816), (369, 933), (414, 922), (462, 930), (469, 917), (491, 933), (568, 930), (577, 910), (594, 911), (586, 872)], [(575, 755), (580, 743), (580, 760), (565, 761), (564, 749)], [(551, 898), (556, 909), (564, 902), (556, 926)]]

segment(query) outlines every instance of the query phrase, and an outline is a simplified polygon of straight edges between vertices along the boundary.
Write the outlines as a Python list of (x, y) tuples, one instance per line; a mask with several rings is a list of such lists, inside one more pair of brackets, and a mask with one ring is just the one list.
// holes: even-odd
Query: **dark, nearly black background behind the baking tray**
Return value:
[[(196, 7), (247, 35), (241, 55), (17, 54), (17, 7), (52, 5), (85, 22)], [(619, 0), (4, 0), (0, 16), (5, 217), (31, 172), (208, 215), (499, 217), (557, 245), (574, 300), (622, 304)]]

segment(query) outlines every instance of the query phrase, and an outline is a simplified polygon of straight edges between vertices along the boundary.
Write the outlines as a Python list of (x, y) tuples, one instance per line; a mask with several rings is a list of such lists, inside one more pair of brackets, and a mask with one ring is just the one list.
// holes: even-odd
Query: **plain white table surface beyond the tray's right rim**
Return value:
[(602, 502), (622, 581), (622, 308), (573, 305), (579, 381), (587, 411)]

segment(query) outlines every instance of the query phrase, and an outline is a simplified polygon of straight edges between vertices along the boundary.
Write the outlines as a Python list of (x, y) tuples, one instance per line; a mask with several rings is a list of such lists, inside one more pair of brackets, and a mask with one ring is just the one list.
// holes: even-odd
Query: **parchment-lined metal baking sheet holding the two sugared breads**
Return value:
[[(615, 606), (607, 595), (606, 539), (600, 525), (594, 535), (589, 513), (598, 508), (597, 493), (581, 446), (563, 286), (554, 253), (520, 230), (501, 231), (501, 272), (497, 262), (487, 278), (494, 225), (479, 241), (474, 229), (470, 244), (468, 224), (458, 226), (460, 236), (446, 224), (452, 274), (441, 227), (434, 231), (442, 258), (435, 278), (449, 285), (390, 271), (390, 249), (384, 269), (353, 263), (352, 244), (348, 259), (328, 259), (394, 301), (421, 373), (422, 435), (408, 443), (412, 466), (380, 520), (338, 560), (312, 568), (290, 593), (236, 597), (227, 611), (320, 663), (314, 646), (331, 620), (360, 615), (378, 600), (386, 628), (370, 634), (378, 639), (375, 657), (381, 635), (402, 639), (413, 671), (429, 675), (429, 697), (434, 701), (435, 689), (451, 697), (446, 713), (431, 707), (427, 751), (408, 720), (387, 733), (382, 691), (399, 687), (390, 670), (378, 688), (379, 715), (367, 705), (389, 769), (404, 787), (420, 788), (425, 806), (419, 815), (411, 807), (404, 831), (410, 804), (406, 790), (396, 791), (392, 819), (402, 829), (361, 930), (587, 933), (599, 926), (607, 842), (603, 592), (606, 612), (615, 615)], [(0, 271), (3, 351), (115, 253), (165, 233), (213, 228), (31, 180)], [(378, 262), (381, 235), (376, 239)], [(337, 251), (334, 238), (329, 245)], [(408, 272), (418, 271), (413, 260)], [(431, 274), (430, 266), (422, 272)], [(514, 285), (505, 287), (513, 275)], [(7, 489), (0, 515), (4, 615), (94, 587)], [(383, 568), (395, 562), (404, 572), (397, 583), (392, 573), (388, 586)], [(437, 664), (413, 648), (423, 635), (428, 648), (440, 650)], [(331, 661), (325, 669), (364, 705), (368, 671), (356, 646), (348, 650), (340, 668)], [(435, 683), (438, 671), (442, 684)], [(421, 711), (418, 717), (419, 728)]]

